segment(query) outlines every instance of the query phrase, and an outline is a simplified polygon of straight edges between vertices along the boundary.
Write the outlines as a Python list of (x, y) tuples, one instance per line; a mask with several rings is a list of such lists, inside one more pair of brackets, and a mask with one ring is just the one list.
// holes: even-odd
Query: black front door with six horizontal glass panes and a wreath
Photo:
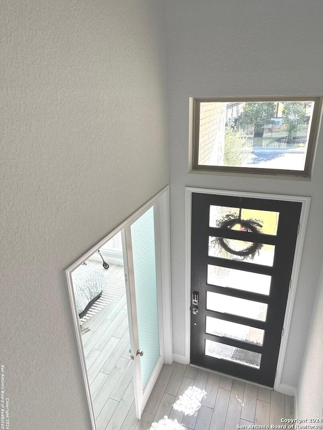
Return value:
[(274, 387), (301, 206), (192, 194), (192, 364)]

